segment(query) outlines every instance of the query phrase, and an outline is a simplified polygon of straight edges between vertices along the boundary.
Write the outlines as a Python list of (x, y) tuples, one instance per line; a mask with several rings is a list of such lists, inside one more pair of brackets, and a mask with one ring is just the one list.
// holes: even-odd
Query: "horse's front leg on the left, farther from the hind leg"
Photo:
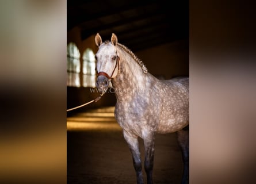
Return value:
[(133, 167), (136, 171), (137, 184), (143, 184), (142, 160), (140, 159), (139, 141), (137, 136), (123, 131), (124, 139), (127, 141), (132, 153)]

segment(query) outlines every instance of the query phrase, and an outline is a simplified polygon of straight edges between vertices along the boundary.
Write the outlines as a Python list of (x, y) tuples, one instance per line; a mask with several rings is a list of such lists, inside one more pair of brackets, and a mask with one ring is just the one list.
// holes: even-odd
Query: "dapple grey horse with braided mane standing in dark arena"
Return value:
[(155, 134), (171, 132), (177, 132), (184, 161), (182, 183), (188, 183), (189, 78), (155, 78), (130, 49), (118, 43), (114, 33), (104, 43), (97, 33), (95, 44), (96, 86), (106, 91), (112, 82), (117, 99), (114, 115), (131, 150), (137, 183), (143, 183), (138, 137), (144, 141), (147, 183), (152, 183)]

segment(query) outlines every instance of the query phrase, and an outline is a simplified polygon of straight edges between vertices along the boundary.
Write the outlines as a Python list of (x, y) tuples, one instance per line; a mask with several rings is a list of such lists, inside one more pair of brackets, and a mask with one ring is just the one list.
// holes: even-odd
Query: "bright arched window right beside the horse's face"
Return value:
[(83, 87), (95, 87), (96, 80), (96, 61), (94, 53), (87, 48), (83, 52)]

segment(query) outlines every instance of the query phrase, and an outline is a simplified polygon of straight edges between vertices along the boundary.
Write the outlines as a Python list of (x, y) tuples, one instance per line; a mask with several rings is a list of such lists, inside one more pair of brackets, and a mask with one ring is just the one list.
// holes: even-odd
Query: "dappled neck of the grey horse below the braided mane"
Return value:
[(119, 73), (112, 80), (119, 100), (132, 97), (146, 85), (147, 74), (128, 53), (120, 53)]

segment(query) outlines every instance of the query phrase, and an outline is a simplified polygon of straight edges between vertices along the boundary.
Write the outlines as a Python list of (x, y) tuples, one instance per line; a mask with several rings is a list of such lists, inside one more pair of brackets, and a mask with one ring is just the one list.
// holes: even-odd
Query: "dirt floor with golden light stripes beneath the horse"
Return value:
[[(139, 141), (144, 156), (143, 141)], [(154, 183), (181, 183), (182, 171), (175, 133), (156, 135)], [(67, 118), (67, 183), (136, 183), (131, 152), (113, 108)]]

